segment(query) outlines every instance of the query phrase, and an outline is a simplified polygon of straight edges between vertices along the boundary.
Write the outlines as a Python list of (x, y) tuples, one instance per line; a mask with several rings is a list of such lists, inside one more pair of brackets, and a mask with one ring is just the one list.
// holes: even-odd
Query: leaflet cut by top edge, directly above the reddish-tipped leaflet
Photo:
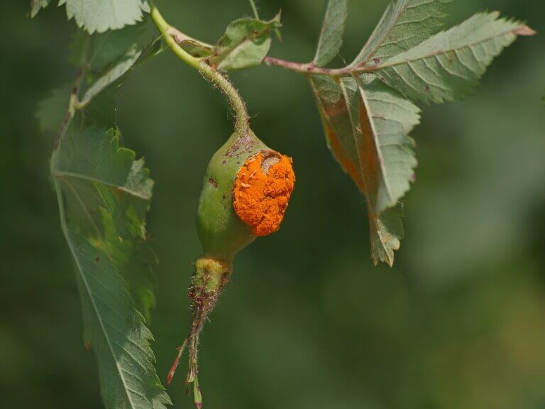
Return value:
[(390, 3), (350, 66), (377, 63), (422, 43), (443, 26), (446, 5), (451, 1), (397, 0)]

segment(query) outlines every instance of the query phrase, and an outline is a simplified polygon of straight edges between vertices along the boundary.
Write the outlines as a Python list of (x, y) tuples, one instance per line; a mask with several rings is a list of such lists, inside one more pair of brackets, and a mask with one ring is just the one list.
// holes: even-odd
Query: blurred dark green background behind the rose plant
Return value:
[[(208, 41), (250, 13), (245, 0), (158, 3)], [(386, 4), (351, 1), (343, 58)], [(311, 60), (321, 1), (260, 1), (265, 18), (278, 9), (283, 41), (271, 55)], [(451, 23), (483, 9), (545, 33), (543, 0), (458, 0)], [(101, 408), (48, 177), (53, 136), (34, 117), (75, 75), (75, 23), (64, 8), (35, 21), (27, 12), (11, 1), (0, 13), (0, 406)], [(423, 107), (392, 269), (370, 262), (363, 197), (327, 150), (304, 79), (274, 67), (232, 77), (258, 136), (294, 158), (297, 185), (280, 232), (236, 259), (204, 331), (205, 408), (545, 408), (545, 37), (517, 40), (466, 102)], [(189, 322), (201, 178), (231, 121), (219, 92), (165, 52), (129, 77), (119, 123), (156, 181), (151, 328), (164, 380)], [(175, 408), (192, 408), (183, 378), (168, 392)]]

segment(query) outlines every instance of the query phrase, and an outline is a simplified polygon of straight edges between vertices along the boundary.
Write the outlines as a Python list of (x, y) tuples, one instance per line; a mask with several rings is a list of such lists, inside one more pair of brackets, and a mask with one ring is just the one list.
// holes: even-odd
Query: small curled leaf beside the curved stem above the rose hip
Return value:
[(280, 27), (280, 14), (271, 21), (241, 18), (227, 26), (210, 58), (218, 70), (231, 71), (260, 65), (270, 48), (270, 31)]

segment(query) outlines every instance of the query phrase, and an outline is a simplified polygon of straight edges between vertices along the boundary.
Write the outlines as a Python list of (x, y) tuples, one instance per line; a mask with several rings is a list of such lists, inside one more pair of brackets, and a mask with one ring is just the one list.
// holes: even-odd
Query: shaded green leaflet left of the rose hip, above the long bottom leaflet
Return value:
[(52, 168), (67, 189), (67, 215), (80, 229), (104, 236), (103, 211), (117, 236), (145, 241), (145, 212), (153, 181), (143, 160), (119, 146), (119, 131), (89, 126), (68, 129)]

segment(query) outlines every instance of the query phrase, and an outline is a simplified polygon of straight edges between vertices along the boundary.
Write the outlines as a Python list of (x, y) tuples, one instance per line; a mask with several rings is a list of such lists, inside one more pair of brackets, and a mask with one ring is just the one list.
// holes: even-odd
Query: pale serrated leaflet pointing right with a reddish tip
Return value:
[(405, 97), (444, 102), (470, 93), (493, 58), (517, 35), (534, 32), (500, 13), (478, 13), (376, 68), (382, 81)]

